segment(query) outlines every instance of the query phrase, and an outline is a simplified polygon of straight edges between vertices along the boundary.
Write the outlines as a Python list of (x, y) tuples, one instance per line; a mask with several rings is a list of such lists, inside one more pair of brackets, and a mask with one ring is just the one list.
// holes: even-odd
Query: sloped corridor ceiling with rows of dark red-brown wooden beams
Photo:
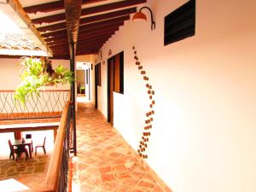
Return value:
[[(70, 58), (70, 44), (75, 55), (97, 54), (137, 5), (147, 0), (20, 0), (55, 59)], [(73, 32), (73, 33), (72, 33)], [(71, 37), (73, 36), (73, 37)]]

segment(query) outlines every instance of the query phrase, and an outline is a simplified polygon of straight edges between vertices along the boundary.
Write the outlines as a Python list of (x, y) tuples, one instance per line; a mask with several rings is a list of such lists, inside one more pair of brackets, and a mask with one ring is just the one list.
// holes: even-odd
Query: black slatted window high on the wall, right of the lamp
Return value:
[(195, 0), (165, 17), (165, 46), (195, 35)]

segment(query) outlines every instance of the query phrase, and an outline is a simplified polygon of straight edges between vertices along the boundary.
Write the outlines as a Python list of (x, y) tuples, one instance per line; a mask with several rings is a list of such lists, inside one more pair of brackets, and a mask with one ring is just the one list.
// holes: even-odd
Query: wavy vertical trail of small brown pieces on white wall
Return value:
[(154, 116), (154, 90), (152, 89), (152, 85), (148, 83), (149, 79), (146, 75), (146, 72), (143, 70), (143, 66), (141, 65), (140, 61), (137, 57), (137, 51), (135, 47), (132, 47), (133, 53), (134, 53), (134, 60), (135, 64), (137, 65), (138, 71), (143, 75), (143, 80), (145, 82), (145, 86), (147, 88), (147, 94), (148, 94), (148, 112), (146, 113), (145, 117), (145, 125), (143, 127), (143, 136), (140, 140), (139, 148), (137, 149), (138, 154), (143, 157), (144, 159), (148, 158), (148, 154), (146, 154), (146, 149), (148, 148), (148, 142), (149, 137), (151, 135), (150, 131), (152, 129), (152, 122), (153, 122), (153, 116)]

